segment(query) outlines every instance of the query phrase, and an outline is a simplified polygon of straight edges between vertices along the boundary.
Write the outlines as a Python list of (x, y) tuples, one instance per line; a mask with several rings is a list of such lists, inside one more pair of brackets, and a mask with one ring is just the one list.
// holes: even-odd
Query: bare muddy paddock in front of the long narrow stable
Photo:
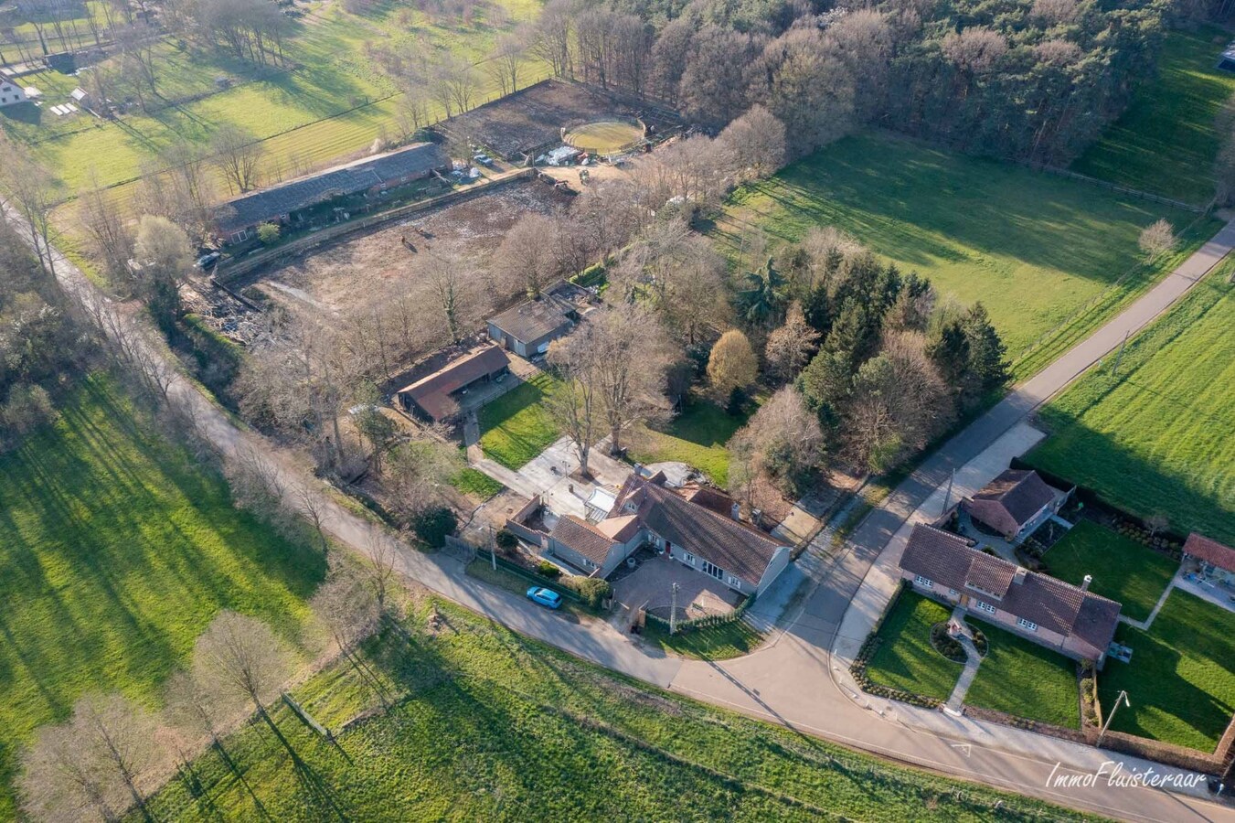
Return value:
[[(383, 285), (410, 274), (417, 255), (462, 257), (484, 267), (524, 214), (566, 208), (569, 194), (547, 183), (509, 183), (462, 203), (431, 209), (264, 269), (251, 283), (284, 303), (346, 313)], [(412, 251), (415, 248), (416, 251)]]

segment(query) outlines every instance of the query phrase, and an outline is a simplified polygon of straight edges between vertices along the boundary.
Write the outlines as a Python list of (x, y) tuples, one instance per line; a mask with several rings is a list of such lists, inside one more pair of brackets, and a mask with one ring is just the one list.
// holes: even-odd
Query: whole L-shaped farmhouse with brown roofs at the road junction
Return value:
[(594, 524), (561, 518), (545, 541), (543, 554), (605, 577), (635, 549), (648, 544), (735, 592), (762, 594), (789, 565), (790, 547), (735, 519), (731, 505), (729, 510), (721, 514), (693, 503), (666, 487), (663, 475), (631, 475), (609, 517)]

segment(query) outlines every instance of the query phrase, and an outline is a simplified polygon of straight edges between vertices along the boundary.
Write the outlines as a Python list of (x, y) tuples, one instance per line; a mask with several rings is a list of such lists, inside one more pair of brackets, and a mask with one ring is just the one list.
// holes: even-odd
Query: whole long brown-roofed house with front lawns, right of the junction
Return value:
[(929, 525), (914, 526), (900, 576), (924, 594), (1099, 669), (1119, 623), (1120, 604), (1088, 591), (1089, 576), (1072, 586)]

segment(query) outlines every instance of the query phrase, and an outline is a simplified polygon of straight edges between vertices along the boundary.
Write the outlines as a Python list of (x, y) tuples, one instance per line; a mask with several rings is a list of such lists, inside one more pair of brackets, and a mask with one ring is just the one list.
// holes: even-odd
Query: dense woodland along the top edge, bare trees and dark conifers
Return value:
[(532, 51), (558, 75), (662, 99), (716, 127), (762, 104), (795, 153), (873, 122), (1047, 162), (1074, 156), (1118, 116), (1153, 70), (1168, 14), (1161, 0), (610, 5), (553, 0)]

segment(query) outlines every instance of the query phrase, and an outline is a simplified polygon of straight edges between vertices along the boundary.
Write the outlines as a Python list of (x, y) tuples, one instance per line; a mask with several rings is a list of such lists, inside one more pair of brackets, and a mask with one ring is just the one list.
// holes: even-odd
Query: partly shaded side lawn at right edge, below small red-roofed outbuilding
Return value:
[(1120, 624), (1115, 639), (1132, 661), (1107, 661), (1098, 697), (1109, 712), (1128, 690), (1131, 708), (1110, 728), (1213, 751), (1235, 713), (1235, 614), (1174, 589), (1147, 633)]

